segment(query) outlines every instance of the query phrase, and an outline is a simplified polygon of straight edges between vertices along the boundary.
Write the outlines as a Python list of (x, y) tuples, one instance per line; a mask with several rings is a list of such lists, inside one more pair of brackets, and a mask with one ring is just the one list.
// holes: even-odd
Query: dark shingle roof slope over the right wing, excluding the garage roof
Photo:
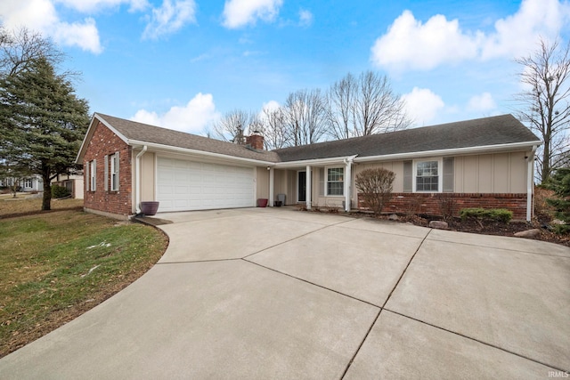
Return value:
[(530, 141), (540, 141), (540, 139), (517, 118), (512, 115), (502, 115), (274, 151), (281, 161), (287, 162), (354, 155), (384, 156)]

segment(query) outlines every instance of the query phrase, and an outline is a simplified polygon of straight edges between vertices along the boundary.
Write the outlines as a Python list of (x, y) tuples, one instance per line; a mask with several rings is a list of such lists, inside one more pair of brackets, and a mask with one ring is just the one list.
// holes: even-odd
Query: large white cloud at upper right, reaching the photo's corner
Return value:
[(394, 71), (428, 70), (445, 64), (528, 53), (538, 36), (558, 36), (570, 20), (570, 4), (523, 0), (519, 10), (497, 20), (493, 33), (464, 31), (459, 20), (438, 14), (422, 23), (404, 11), (371, 48), (371, 61)]

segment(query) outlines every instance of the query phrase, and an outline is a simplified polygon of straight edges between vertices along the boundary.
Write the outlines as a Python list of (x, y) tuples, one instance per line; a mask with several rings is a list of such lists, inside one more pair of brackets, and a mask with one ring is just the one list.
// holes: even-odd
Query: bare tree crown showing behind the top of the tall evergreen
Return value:
[[(65, 60), (65, 53), (61, 52), (50, 38), (28, 28), (8, 31), (0, 27), (0, 75), (16, 75), (38, 58), (44, 58), (57, 67)], [(64, 75), (69, 77), (77, 73), (66, 72)]]

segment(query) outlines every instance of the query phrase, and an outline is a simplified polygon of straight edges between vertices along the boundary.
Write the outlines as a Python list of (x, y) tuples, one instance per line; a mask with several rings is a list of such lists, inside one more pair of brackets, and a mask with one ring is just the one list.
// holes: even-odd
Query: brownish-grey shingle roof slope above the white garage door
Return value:
[(249, 150), (243, 145), (234, 144), (232, 142), (214, 140), (197, 134), (178, 132), (172, 129), (142, 124), (100, 113), (97, 113), (97, 116), (105, 120), (128, 140), (151, 142), (171, 147), (200, 150), (268, 162), (277, 162), (279, 160), (279, 156), (272, 151)]

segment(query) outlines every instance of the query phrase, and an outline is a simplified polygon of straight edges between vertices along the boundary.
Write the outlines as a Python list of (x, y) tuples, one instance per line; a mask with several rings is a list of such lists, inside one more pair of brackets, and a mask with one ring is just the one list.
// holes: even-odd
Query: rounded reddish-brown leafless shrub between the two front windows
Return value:
[(392, 198), (395, 174), (383, 167), (364, 169), (356, 174), (356, 189), (362, 192), (364, 204), (379, 215), (382, 207)]

